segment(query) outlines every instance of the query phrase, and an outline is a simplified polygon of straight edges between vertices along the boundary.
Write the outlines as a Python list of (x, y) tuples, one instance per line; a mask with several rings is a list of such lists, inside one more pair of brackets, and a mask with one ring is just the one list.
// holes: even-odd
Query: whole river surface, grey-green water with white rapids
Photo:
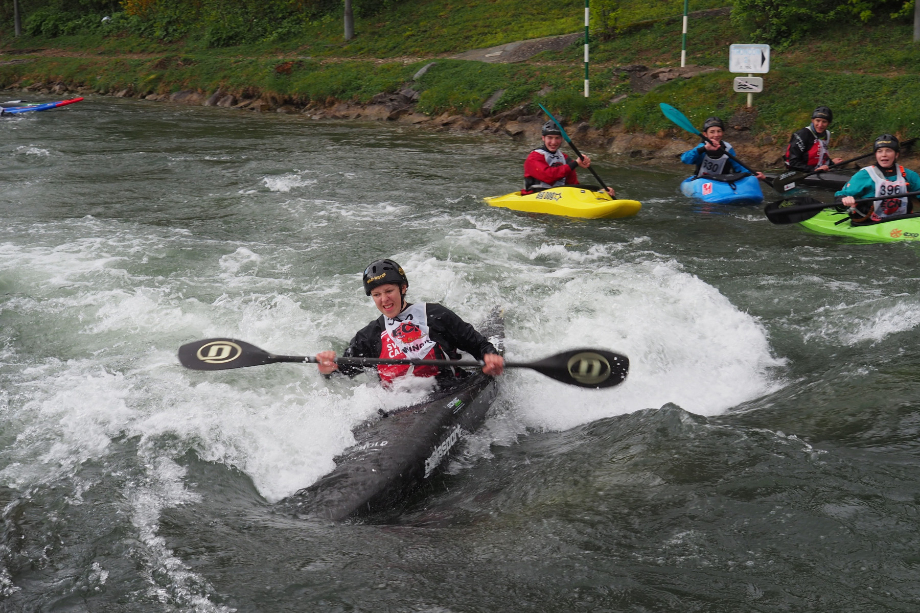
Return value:
[[(0, 610), (915, 611), (920, 274), (596, 163), (637, 217), (491, 209), (530, 144), (90, 98), (0, 121)], [(597, 153), (588, 151), (587, 153)], [(419, 392), (179, 345), (341, 350), (409, 298), (507, 312), (530, 371), (384, 522), (301, 520), (351, 427)]]

